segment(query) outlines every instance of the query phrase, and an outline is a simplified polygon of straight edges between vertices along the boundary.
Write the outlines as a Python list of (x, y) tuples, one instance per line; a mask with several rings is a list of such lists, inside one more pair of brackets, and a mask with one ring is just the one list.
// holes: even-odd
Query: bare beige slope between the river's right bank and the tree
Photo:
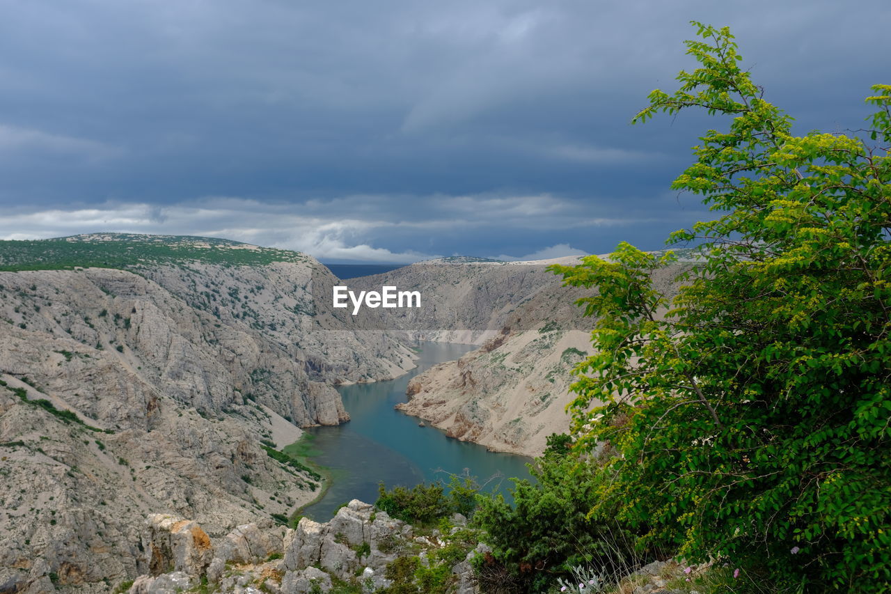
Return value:
[[(673, 293), (679, 272), (659, 270), (654, 285)], [(406, 392), (410, 400), (396, 408), (462, 441), (541, 455), (549, 435), (567, 432), (566, 407), (575, 398), (569, 392), (575, 381), (571, 372), (592, 353), (594, 320), (581, 318), (575, 305), (586, 293), (540, 287), (535, 298), (503, 318), (502, 329), (478, 351), (413, 377)]]

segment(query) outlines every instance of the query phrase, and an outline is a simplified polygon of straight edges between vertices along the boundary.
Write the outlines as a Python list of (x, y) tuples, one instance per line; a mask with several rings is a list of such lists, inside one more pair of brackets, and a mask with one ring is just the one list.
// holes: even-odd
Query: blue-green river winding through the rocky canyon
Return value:
[[(476, 347), (466, 344), (421, 342), (418, 367), (406, 375), (372, 384), (341, 386), (339, 392), (352, 420), (334, 427), (313, 427), (312, 446), (318, 451), (312, 460), (331, 472), (331, 486), (322, 499), (303, 510), (319, 522), (331, 519), (340, 504), (350, 499), (373, 503), (378, 499), (378, 483), (413, 486), (423, 481), (461, 474), (486, 484), (486, 491), (505, 491), (510, 477), (529, 478), (530, 458), (495, 453), (483, 446), (446, 437), (435, 427), (421, 427), (416, 417), (394, 409), (405, 402), (408, 381), (425, 369), (452, 359)], [(494, 478), (493, 478), (494, 477)], [(491, 479), (491, 480), (490, 480)]]

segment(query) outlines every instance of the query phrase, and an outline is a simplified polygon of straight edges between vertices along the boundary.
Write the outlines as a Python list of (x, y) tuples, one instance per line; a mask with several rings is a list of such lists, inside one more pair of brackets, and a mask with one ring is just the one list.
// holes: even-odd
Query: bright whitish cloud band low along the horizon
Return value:
[[(413, 262), (444, 255), (455, 240), (473, 245), (480, 255), (501, 260), (537, 260), (585, 253), (560, 243), (534, 253), (489, 255), (507, 226), (546, 237), (555, 229), (622, 227), (630, 220), (572, 218), (565, 205), (550, 196), (513, 198), (437, 197), (439, 208), (429, 218), (394, 219), (394, 213), (374, 208), (388, 205), (386, 197), (354, 196), (331, 202), (295, 206), (239, 198), (216, 197), (201, 202), (158, 206), (149, 203), (105, 203), (89, 208), (9, 212), (0, 219), (0, 237), (35, 239), (75, 235), (84, 229), (172, 235), (224, 237), (246, 243), (307, 252), (325, 261)], [(358, 208), (363, 204), (364, 209)], [(356, 216), (343, 212), (356, 211)], [(450, 214), (445, 214), (446, 212)], [(430, 241), (435, 231), (445, 240)], [(492, 235), (486, 243), (478, 235)], [(379, 238), (369, 242), (368, 238)], [(394, 251), (372, 243), (420, 245)], [(471, 243), (473, 242), (473, 243)], [(518, 243), (521, 248), (524, 243)], [(485, 246), (485, 247), (483, 247)], [(482, 250), (482, 252), (479, 252)]]

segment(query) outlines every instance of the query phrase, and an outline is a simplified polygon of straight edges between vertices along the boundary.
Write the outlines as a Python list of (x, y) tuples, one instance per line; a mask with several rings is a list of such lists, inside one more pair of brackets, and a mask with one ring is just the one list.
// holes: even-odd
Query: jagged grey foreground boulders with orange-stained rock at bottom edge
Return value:
[[(444, 546), (438, 531), (415, 536), (411, 525), (357, 499), (323, 524), (305, 517), (294, 530), (248, 524), (219, 539), (205, 540), (200, 534), (204, 532), (192, 521), (149, 516), (143, 565), (166, 571), (139, 576), (130, 594), (181, 591), (177, 589), (192, 588), (201, 580), (220, 591), (243, 594), (326, 592), (333, 580), (372, 591), (392, 585), (387, 566), (397, 557), (426, 558)], [(468, 561), (473, 554), (453, 568), (456, 591), (462, 594), (476, 591)]]

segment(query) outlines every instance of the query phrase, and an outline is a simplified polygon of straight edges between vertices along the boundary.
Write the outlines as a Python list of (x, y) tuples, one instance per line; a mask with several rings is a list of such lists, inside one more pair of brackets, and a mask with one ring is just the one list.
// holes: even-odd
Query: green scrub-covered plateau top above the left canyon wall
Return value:
[(0, 271), (143, 268), (200, 261), (225, 266), (311, 262), (303, 253), (213, 237), (96, 233), (54, 239), (0, 241)]

